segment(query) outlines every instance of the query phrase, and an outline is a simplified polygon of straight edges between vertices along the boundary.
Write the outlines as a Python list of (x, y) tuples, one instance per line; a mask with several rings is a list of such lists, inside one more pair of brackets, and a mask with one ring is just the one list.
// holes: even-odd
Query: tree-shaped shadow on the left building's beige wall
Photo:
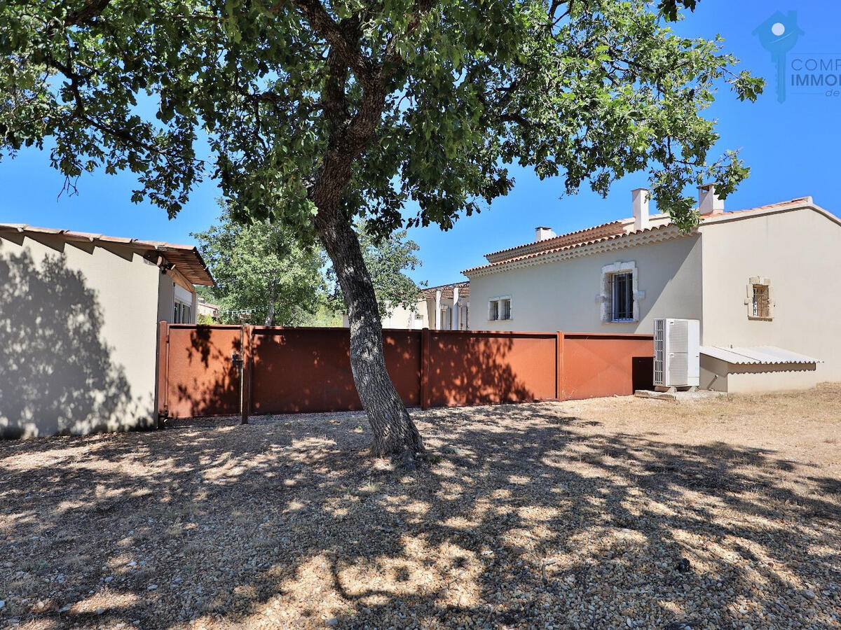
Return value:
[(119, 428), (130, 386), (101, 339), (103, 313), (63, 255), (0, 254), (0, 436)]

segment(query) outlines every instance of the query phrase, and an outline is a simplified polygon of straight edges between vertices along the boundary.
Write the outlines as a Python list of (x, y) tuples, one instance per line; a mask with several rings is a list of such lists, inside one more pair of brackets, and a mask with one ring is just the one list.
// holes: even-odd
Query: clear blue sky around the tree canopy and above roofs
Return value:
[[(837, 0), (701, 0), (676, 29), (681, 34), (712, 37), (722, 34), (726, 49), (742, 66), (769, 81), (756, 103), (743, 103), (722, 91), (707, 116), (719, 120), (720, 150), (740, 148), (751, 166), (751, 176), (731, 197), (727, 209), (754, 207), (792, 197), (812, 195), (815, 202), (841, 214), (841, 96), (790, 93), (777, 102), (775, 66), (770, 52), (752, 34), (775, 10), (797, 11), (804, 32), (790, 55), (807, 53), (841, 58), (838, 29), (841, 3)], [(139, 239), (193, 243), (189, 236), (207, 228), (217, 215), (219, 192), (207, 182), (193, 193), (182, 213), (167, 219), (159, 208), (133, 204), (133, 176), (119, 174), (82, 176), (79, 194), (62, 195), (63, 178), (50, 168), (48, 155), (26, 150), (15, 160), (0, 163), (0, 222), (29, 223), (50, 228), (70, 228)], [(533, 228), (549, 225), (556, 232), (604, 223), (630, 215), (631, 190), (646, 186), (645, 177), (628, 176), (616, 182), (606, 198), (584, 190), (563, 197), (560, 179), (539, 181), (531, 173), (515, 170), (516, 186), (489, 210), (456, 223), (449, 232), (416, 228), (412, 239), (421, 246), (423, 266), (412, 274), (431, 285), (463, 280), (460, 271), (484, 262), (484, 254), (525, 243)], [(411, 209), (407, 214), (413, 214)]]

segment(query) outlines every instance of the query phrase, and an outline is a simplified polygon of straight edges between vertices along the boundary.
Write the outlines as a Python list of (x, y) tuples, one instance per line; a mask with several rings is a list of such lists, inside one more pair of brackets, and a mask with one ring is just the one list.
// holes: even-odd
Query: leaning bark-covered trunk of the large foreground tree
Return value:
[(385, 369), (383, 325), (357, 234), (338, 208), (320, 208), (315, 228), (333, 261), (345, 297), (353, 381), (371, 423), (373, 454), (401, 454), (414, 460), (415, 453), (423, 450), (421, 435)]

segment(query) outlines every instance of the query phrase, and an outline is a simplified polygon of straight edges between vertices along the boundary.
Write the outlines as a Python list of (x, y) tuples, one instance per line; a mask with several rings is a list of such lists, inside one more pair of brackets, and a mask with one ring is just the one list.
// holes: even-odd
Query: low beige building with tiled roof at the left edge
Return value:
[(0, 223), (0, 436), (154, 426), (156, 323), (195, 323), (198, 251)]

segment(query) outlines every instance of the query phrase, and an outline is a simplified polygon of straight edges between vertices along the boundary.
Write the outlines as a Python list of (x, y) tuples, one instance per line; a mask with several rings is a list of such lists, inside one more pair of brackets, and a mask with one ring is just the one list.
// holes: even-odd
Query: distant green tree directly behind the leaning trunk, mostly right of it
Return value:
[[(378, 237), (365, 223), (360, 222), (357, 223), (356, 230), (380, 313), (388, 317), (396, 307), (410, 310), (415, 308), (420, 291), (405, 271), (415, 270), (421, 264), (421, 260), (415, 255), (421, 248), (415, 241), (407, 238), (408, 233), (405, 229), (389, 236)], [(334, 311), (342, 311), (346, 300), (332, 265), (327, 270), (327, 278), (333, 287), (331, 307)]]

